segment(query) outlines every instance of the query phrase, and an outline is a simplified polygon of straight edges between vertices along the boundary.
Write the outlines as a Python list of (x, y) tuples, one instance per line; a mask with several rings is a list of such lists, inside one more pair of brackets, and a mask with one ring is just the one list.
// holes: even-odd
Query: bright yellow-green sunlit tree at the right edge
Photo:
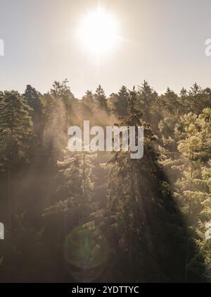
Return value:
[[(186, 242), (186, 281), (202, 281), (206, 273), (205, 224), (210, 221), (209, 160), (211, 110), (203, 114), (185, 114), (175, 128), (179, 164), (172, 163), (177, 170), (175, 195), (183, 210), (191, 239)], [(180, 173), (180, 174), (179, 174)], [(206, 179), (206, 178), (207, 179)], [(208, 214), (208, 215), (207, 215)], [(209, 261), (208, 261), (209, 262)]]

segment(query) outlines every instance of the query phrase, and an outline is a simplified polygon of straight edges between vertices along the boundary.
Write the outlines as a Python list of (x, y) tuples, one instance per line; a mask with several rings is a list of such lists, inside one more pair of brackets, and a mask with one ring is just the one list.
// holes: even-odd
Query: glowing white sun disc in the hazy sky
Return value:
[(98, 7), (89, 11), (79, 22), (78, 37), (82, 47), (93, 54), (103, 55), (117, 45), (117, 19), (112, 13)]

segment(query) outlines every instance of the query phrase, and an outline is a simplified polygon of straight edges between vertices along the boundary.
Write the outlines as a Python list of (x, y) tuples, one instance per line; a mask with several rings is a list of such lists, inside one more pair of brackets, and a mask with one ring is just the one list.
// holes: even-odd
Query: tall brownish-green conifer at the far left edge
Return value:
[(30, 108), (17, 91), (1, 92), (0, 99), (0, 169), (6, 174), (8, 226), (12, 228), (13, 214), (18, 201), (14, 201), (15, 173), (21, 165), (30, 161), (32, 144), (32, 120)]

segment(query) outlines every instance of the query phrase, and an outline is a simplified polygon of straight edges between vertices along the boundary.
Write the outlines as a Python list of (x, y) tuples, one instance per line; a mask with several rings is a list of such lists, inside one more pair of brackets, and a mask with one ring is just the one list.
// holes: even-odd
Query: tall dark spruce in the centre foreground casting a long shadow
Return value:
[[(128, 116), (121, 125), (145, 128), (144, 157), (133, 160), (129, 152), (115, 153), (108, 162), (107, 205), (94, 213), (95, 223), (90, 222), (90, 226), (96, 224), (108, 234), (113, 260), (118, 259), (115, 268), (121, 271), (116, 281), (176, 281), (179, 271), (181, 280), (184, 257), (174, 250), (179, 243), (177, 207), (167, 182), (158, 178), (161, 169), (156, 161), (157, 154), (153, 152), (155, 137), (151, 126), (143, 122), (136, 109), (136, 96), (134, 89), (129, 95)], [(174, 232), (171, 234), (173, 244), (168, 243), (168, 246), (165, 245), (170, 240), (170, 230), (162, 225), (160, 217), (171, 222), (170, 229)], [(170, 250), (174, 250), (177, 259), (171, 260), (171, 269), (165, 265), (165, 261), (170, 261)]]

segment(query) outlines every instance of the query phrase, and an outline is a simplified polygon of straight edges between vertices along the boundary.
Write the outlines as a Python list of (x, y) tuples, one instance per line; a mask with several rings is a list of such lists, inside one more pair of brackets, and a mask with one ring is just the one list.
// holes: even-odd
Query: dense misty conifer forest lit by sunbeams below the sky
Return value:
[[(143, 126), (143, 158), (70, 152), (84, 120)], [(2, 91), (0, 150), (0, 282), (211, 281), (209, 87)]]

